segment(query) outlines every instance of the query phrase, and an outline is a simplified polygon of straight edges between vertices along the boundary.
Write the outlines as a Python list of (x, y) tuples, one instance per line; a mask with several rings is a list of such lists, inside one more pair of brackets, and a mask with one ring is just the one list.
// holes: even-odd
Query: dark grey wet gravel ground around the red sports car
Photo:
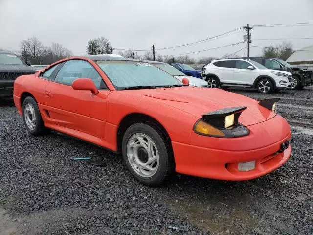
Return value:
[[(136, 182), (119, 155), (55, 132), (31, 136), (12, 101), (0, 101), (0, 235), (313, 234), (313, 87), (229, 91), (281, 98), (291, 159), (255, 180), (176, 175), (157, 188)], [(104, 166), (70, 160), (85, 156)]]

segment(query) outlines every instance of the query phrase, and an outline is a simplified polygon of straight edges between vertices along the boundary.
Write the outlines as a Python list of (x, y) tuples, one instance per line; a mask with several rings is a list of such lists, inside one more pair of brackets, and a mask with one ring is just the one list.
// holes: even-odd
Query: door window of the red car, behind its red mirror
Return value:
[(84, 60), (67, 61), (56, 75), (55, 81), (72, 85), (77, 78), (90, 78), (98, 89), (106, 89), (100, 74), (89, 62)]

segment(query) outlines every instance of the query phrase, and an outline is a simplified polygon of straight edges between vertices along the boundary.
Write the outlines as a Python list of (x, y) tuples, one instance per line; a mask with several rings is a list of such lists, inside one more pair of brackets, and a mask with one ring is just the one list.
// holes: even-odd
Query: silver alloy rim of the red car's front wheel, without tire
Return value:
[(127, 143), (127, 158), (134, 171), (141, 177), (152, 177), (159, 167), (156, 144), (147, 135), (134, 134)]

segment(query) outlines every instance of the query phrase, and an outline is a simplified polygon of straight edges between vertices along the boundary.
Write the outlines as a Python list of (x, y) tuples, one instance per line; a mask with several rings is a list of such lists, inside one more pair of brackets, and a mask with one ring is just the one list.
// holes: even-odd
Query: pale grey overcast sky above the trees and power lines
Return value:
[[(19, 50), (19, 43), (38, 37), (45, 46), (62, 43), (75, 55), (86, 54), (90, 39), (104, 36), (113, 48), (156, 50), (210, 38), (246, 24), (313, 22), (313, 0), (0, 0), (0, 48)], [(244, 32), (193, 46), (159, 50), (176, 55), (221, 47), (243, 40)], [(281, 43), (280, 38), (313, 38), (313, 24), (300, 27), (255, 27), (252, 45)], [(313, 39), (291, 41), (294, 49)], [(193, 53), (223, 56), (246, 44)], [(262, 49), (251, 47), (250, 55)], [(114, 51), (117, 53), (117, 51)], [(245, 49), (238, 52), (246, 54)], [(138, 52), (142, 54), (142, 52)]]

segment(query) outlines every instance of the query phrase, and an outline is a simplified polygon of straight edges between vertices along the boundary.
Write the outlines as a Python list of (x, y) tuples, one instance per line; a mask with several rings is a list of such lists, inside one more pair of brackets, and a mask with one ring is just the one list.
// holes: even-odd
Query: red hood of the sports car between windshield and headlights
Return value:
[(247, 109), (239, 117), (239, 122), (246, 126), (266, 121), (276, 115), (274, 112), (260, 106), (258, 101), (254, 99), (221, 89), (204, 89), (189, 86), (137, 90), (137, 94), (157, 99), (197, 118), (201, 118), (203, 114), (214, 110), (247, 106)]

